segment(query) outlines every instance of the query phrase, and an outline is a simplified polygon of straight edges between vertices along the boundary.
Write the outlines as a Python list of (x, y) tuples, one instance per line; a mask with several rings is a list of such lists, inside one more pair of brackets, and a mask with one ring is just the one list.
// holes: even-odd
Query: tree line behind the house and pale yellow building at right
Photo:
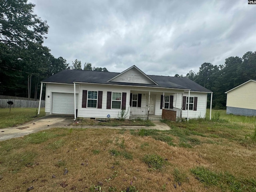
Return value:
[(214, 92), (213, 107), (223, 109), (226, 106), (226, 91), (248, 80), (256, 80), (256, 52), (248, 51), (242, 58), (226, 58), (225, 63), (219, 66), (203, 63), (198, 73), (190, 70), (186, 76), (175, 76), (189, 78)]

